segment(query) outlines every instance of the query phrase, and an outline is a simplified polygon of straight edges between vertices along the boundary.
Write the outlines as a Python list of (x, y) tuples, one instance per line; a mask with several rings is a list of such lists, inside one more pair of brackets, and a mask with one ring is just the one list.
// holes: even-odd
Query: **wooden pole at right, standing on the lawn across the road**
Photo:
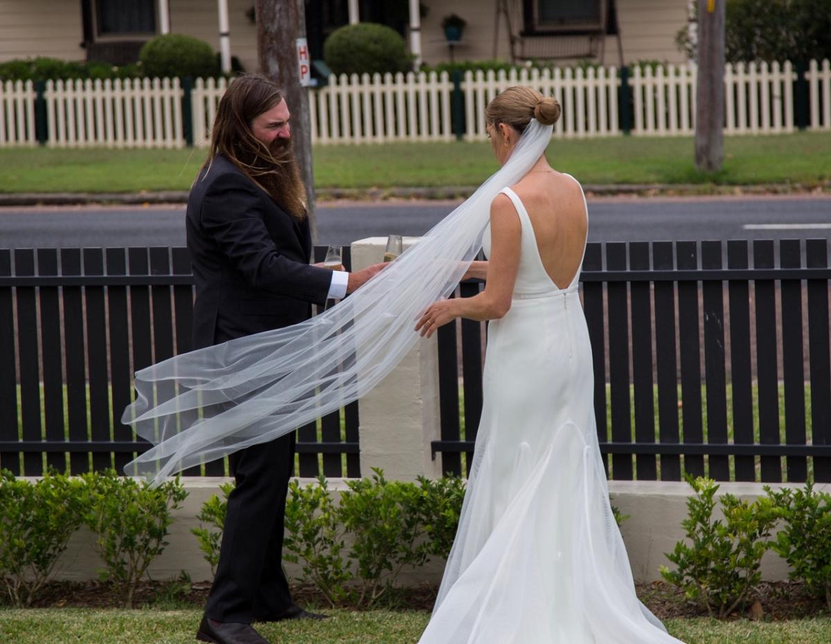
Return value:
[(725, 0), (698, 0), (696, 169), (721, 170), (725, 118)]

